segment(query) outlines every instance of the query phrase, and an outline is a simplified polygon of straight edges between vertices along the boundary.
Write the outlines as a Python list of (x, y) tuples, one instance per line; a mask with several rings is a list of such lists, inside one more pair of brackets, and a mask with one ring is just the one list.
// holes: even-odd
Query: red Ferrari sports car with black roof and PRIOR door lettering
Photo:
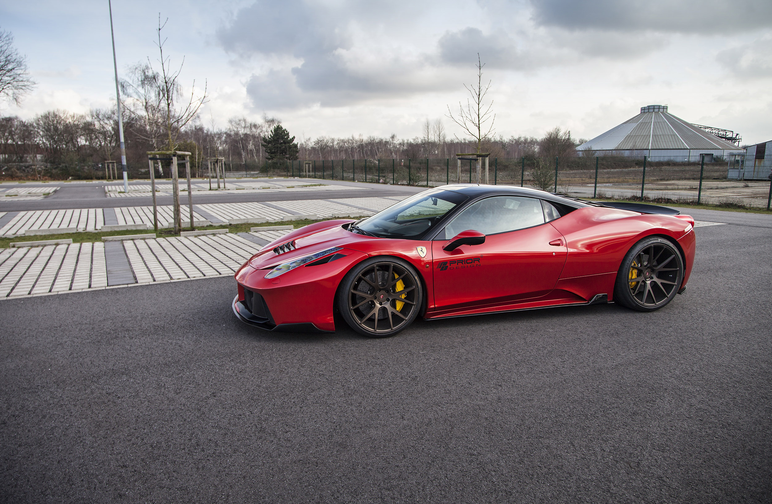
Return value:
[(609, 301), (659, 310), (686, 289), (693, 227), (689, 215), (654, 205), (445, 185), (266, 245), (235, 274), (233, 312), (293, 332), (332, 332), (340, 313), (359, 333), (386, 337), (416, 316)]

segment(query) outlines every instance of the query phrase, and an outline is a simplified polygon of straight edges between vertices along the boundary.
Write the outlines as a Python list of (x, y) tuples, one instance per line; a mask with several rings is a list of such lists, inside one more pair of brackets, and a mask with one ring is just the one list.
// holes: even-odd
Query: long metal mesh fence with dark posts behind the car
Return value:
[[(521, 157), (489, 160), (489, 184), (510, 184), (584, 198), (615, 198), (660, 203), (743, 206), (770, 209), (772, 161), (754, 171), (757, 178), (730, 178), (730, 162), (672, 161), (657, 157)], [(475, 161), (451, 159), (358, 159), (286, 161), (262, 176), (308, 177), (435, 187), (476, 183)], [(229, 171), (249, 176), (248, 172)], [(242, 175), (243, 173), (243, 175)], [(736, 175), (735, 175), (736, 177)], [(482, 182), (485, 171), (482, 169)]]

